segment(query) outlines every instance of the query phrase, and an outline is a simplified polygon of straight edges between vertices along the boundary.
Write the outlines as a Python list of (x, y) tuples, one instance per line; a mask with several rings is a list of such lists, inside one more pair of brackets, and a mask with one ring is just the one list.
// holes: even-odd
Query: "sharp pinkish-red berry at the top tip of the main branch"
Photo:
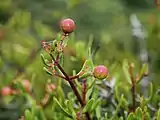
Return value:
[(60, 28), (65, 34), (69, 34), (74, 31), (75, 23), (72, 19), (67, 18), (60, 22)]

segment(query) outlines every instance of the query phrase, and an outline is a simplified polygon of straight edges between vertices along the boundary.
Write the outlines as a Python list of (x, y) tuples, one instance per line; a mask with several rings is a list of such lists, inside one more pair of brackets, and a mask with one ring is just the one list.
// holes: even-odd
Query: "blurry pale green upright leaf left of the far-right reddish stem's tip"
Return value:
[(131, 84), (131, 78), (130, 78), (130, 74), (129, 74), (128, 69), (129, 69), (128, 61), (127, 61), (127, 59), (124, 59), (123, 60), (123, 72), (124, 72), (124, 75), (125, 75), (127, 82), (129, 84)]

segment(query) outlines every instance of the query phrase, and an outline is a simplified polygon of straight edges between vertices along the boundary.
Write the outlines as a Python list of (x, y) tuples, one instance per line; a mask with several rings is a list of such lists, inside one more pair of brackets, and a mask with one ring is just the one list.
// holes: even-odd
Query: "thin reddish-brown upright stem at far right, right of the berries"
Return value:
[(133, 112), (135, 112), (135, 109), (136, 109), (136, 81), (134, 79), (133, 66), (131, 64), (129, 65), (129, 73), (130, 73), (131, 82), (132, 82), (131, 90), (132, 90)]

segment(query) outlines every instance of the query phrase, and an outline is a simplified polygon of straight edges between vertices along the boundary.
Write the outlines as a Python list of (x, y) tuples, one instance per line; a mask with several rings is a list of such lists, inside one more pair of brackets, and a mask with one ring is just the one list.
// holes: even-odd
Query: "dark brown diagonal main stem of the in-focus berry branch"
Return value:
[[(54, 62), (56, 62), (54, 56), (51, 53), (49, 55), (51, 56), (52, 60)], [(84, 107), (85, 103), (82, 100), (82, 98), (81, 98), (81, 96), (80, 96), (80, 94), (79, 94), (74, 82), (72, 80), (70, 80), (69, 75), (64, 71), (64, 69), (61, 67), (61, 65), (59, 63), (56, 62), (55, 64), (59, 68), (59, 70), (62, 72), (62, 74), (66, 77), (66, 80), (69, 82), (69, 84), (70, 84), (74, 94), (76, 95), (78, 101), (80, 102), (81, 106)], [(86, 117), (87, 117), (88, 120), (92, 120), (91, 117), (90, 117), (90, 114), (88, 112), (86, 112), (85, 114), (86, 114)]]

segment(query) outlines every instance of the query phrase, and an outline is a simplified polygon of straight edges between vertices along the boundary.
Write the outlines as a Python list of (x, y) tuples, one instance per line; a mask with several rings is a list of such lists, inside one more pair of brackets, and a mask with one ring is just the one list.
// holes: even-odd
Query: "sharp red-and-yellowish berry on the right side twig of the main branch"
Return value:
[(104, 65), (98, 65), (94, 68), (93, 75), (95, 78), (103, 80), (108, 75), (108, 69)]

